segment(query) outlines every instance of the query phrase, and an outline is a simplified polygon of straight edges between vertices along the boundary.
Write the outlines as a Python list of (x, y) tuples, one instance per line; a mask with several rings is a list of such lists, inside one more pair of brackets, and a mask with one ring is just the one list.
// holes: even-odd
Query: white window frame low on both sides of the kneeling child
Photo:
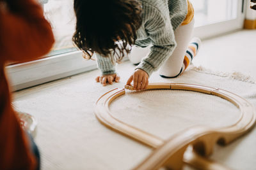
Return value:
[[(207, 39), (243, 29), (246, 3), (244, 0), (238, 0), (237, 18), (195, 27), (194, 36)], [(6, 73), (11, 81), (12, 90), (15, 91), (93, 69), (97, 69), (97, 62), (83, 59), (82, 52), (76, 51), (6, 66)]]

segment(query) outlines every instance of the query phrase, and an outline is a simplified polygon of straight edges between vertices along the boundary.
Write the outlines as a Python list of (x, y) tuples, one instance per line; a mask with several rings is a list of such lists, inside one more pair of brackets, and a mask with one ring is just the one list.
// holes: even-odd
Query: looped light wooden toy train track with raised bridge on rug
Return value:
[[(125, 89), (133, 90), (133, 87), (125, 86)], [(252, 104), (236, 94), (222, 89), (186, 83), (150, 83), (147, 89), (190, 90), (222, 97), (236, 105), (241, 111), (241, 116), (237, 122), (228, 127), (219, 129), (206, 126), (190, 127), (185, 131), (179, 132), (179, 134), (175, 134), (167, 141), (164, 141), (148, 132), (125, 124), (111, 115), (109, 104), (117, 97), (124, 95), (125, 89), (113, 89), (101, 96), (96, 103), (95, 115), (102, 124), (110, 129), (140, 141), (147, 146), (156, 148), (147, 159), (134, 169), (159, 169), (164, 166), (170, 169), (181, 169), (183, 162), (198, 167), (202, 159), (196, 157), (193, 152), (190, 152), (191, 157), (184, 159), (184, 153), (189, 146), (193, 147), (194, 152), (208, 156), (211, 155), (216, 143), (228, 144), (250, 131), (253, 125), (255, 125), (256, 115)], [(202, 160), (201, 162), (204, 166), (207, 166), (206, 161)], [(209, 166), (212, 166), (212, 164), (209, 164)]]

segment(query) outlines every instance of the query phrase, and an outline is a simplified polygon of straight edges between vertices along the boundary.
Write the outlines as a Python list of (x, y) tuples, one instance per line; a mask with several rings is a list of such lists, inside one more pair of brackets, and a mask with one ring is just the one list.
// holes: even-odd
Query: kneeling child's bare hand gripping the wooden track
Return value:
[(137, 69), (128, 79), (126, 85), (131, 85), (132, 80), (134, 89), (146, 89), (148, 86), (148, 73), (146, 73), (142, 69)]

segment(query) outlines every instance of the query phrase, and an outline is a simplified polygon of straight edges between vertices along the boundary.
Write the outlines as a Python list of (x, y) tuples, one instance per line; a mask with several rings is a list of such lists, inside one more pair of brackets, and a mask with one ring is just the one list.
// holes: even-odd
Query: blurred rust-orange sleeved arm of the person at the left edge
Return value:
[(33, 0), (6, 0), (0, 10), (0, 51), (4, 60), (26, 62), (45, 55), (54, 43), (51, 25)]

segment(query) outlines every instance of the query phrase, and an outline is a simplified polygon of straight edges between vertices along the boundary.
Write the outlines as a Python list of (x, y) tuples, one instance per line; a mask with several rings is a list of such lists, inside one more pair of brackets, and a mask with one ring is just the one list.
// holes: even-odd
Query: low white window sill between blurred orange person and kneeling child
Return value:
[(15, 91), (96, 68), (95, 60), (85, 60), (81, 52), (69, 52), (7, 66), (6, 71)]

